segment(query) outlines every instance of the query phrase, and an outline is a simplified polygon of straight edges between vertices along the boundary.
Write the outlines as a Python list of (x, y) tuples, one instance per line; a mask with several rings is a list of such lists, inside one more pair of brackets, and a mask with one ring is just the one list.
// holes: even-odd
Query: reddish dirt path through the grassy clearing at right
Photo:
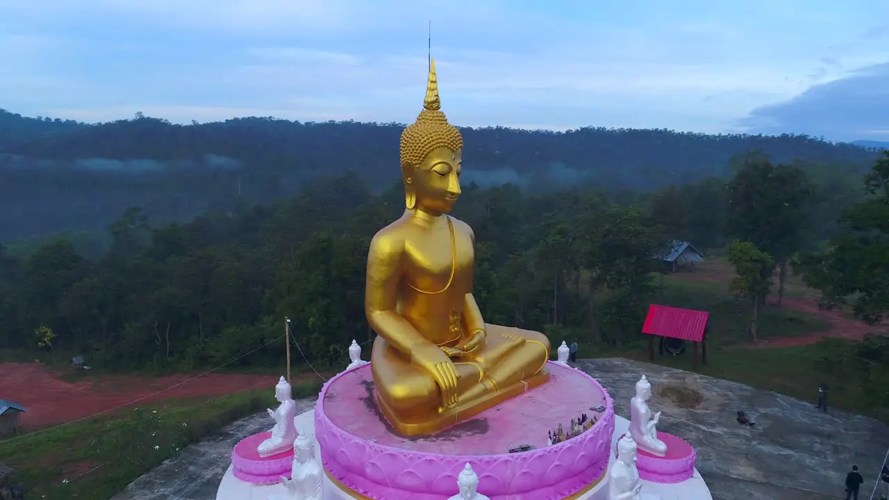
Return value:
[[(724, 259), (712, 259), (700, 264), (692, 272), (677, 272), (669, 275), (670, 279), (679, 281), (709, 281), (727, 284), (732, 280), (734, 271)], [(864, 335), (889, 335), (889, 325), (869, 326), (857, 319), (846, 318), (841, 310), (821, 310), (818, 307), (818, 292), (805, 286), (799, 278), (790, 277), (784, 286), (785, 296), (783, 307), (811, 314), (827, 321), (829, 329), (813, 335), (793, 337), (773, 337), (757, 344), (740, 345), (739, 348), (781, 348), (797, 347), (819, 343), (827, 338), (842, 338), (861, 341)], [(773, 290), (773, 298), (777, 296), (777, 286)]]

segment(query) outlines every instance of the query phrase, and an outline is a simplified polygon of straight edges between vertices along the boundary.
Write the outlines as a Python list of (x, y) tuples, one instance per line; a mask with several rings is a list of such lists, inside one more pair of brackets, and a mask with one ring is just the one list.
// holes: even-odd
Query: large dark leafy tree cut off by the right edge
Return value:
[(855, 316), (873, 324), (889, 312), (889, 150), (864, 178), (869, 199), (838, 218), (844, 228), (829, 249), (805, 258), (807, 285), (821, 290), (822, 305), (851, 303)]

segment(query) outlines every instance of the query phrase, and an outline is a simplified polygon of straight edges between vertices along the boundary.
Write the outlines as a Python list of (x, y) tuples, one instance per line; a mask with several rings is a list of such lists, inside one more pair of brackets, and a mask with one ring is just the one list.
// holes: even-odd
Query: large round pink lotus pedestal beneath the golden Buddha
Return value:
[[(324, 384), (315, 437), (324, 472), (340, 489), (385, 500), (445, 500), (469, 462), (492, 500), (557, 500), (603, 480), (614, 433), (613, 400), (589, 375), (549, 363), (549, 382), (428, 436), (396, 434), (377, 407), (370, 364)], [(591, 407), (605, 407), (598, 414)], [(597, 416), (589, 430), (547, 446), (548, 431)], [(530, 451), (509, 453), (522, 445)]]

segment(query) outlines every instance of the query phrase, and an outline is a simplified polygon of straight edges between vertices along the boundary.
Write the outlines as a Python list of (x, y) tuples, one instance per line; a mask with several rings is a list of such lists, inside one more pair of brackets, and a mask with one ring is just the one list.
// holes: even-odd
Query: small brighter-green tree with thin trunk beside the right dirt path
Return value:
[(736, 275), (729, 284), (729, 290), (738, 297), (749, 299), (749, 332), (753, 342), (757, 342), (759, 304), (772, 286), (774, 262), (769, 254), (749, 241), (736, 239), (725, 248), (725, 253)]

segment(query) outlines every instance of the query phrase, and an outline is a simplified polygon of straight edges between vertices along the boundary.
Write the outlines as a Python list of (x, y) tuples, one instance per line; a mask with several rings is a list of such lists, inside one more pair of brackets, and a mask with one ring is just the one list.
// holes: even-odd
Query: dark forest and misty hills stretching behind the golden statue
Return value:
[[(281, 335), (284, 318), (319, 367), (370, 342), (365, 264), (404, 213), (404, 125), (0, 124), (0, 354), (79, 354), (106, 370), (280, 366), (284, 351), (244, 350)], [(648, 304), (666, 303), (712, 311), (725, 345), (757, 343), (790, 325), (781, 307), (759, 308), (769, 294), (782, 303), (791, 275), (863, 321), (889, 311), (889, 151), (798, 135), (463, 134), (453, 214), (476, 235), (473, 294), (493, 324), (622, 349), (640, 341)], [(737, 276), (718, 293), (668, 294), (652, 257), (677, 241), (724, 252)], [(825, 363), (859, 366), (858, 352)], [(830, 380), (885, 387), (884, 372), (862, 373)], [(861, 407), (887, 406), (865, 392)]]

